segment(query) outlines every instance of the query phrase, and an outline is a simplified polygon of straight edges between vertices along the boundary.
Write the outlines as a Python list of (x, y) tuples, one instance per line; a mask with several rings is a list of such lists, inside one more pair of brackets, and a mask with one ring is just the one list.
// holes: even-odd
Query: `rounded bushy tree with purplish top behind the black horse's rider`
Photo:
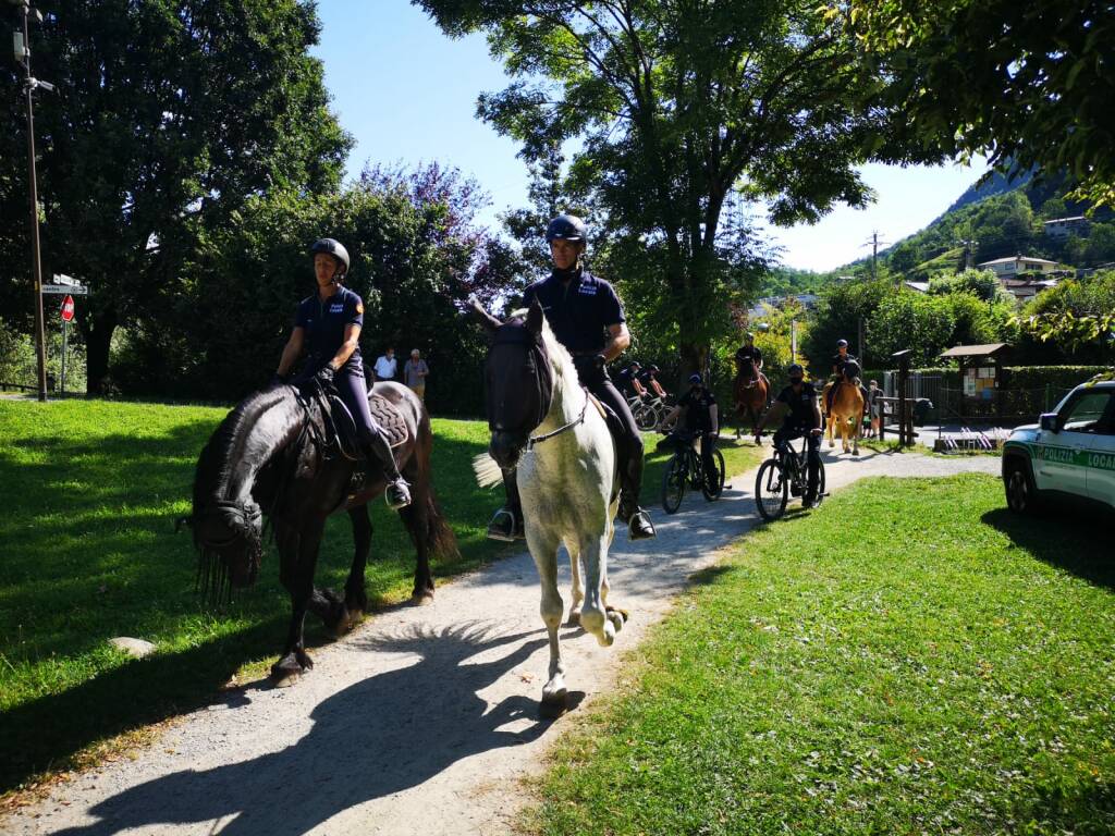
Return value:
[(113, 373), (128, 391), (162, 397), (227, 401), (260, 388), (298, 301), (314, 291), (308, 242), (329, 230), (352, 259), (346, 284), (365, 301), (366, 361), (387, 344), (404, 356), (418, 348), (432, 369), (432, 407), (478, 415), (484, 341), (458, 303), (475, 295), (489, 304), (521, 271), (476, 225), (482, 203), (474, 183), (436, 165), (371, 168), (340, 194), (251, 198), (197, 253), (183, 286), (129, 330)]

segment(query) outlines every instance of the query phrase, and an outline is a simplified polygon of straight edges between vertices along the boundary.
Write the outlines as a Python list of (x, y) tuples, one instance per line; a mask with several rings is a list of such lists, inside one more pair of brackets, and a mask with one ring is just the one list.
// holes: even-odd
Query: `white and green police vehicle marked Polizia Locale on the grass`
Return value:
[(1055, 495), (1115, 508), (1115, 379), (1076, 387), (1039, 424), (1011, 432), (1002, 448), (1002, 484), (1018, 514)]

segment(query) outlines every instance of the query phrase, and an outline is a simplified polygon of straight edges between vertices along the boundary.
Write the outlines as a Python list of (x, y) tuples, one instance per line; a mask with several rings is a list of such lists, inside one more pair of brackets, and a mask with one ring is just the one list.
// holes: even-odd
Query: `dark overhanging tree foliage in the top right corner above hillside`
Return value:
[(852, 0), (834, 20), (890, 80), (896, 145), (987, 154), (1002, 169), (1056, 174), (1115, 205), (1115, 7), (1106, 0)]

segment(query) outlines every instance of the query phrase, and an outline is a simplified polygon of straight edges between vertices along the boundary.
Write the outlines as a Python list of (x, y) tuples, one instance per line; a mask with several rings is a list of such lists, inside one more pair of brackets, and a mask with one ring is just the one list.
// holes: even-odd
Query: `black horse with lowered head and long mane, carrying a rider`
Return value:
[[(271, 667), (277, 680), (313, 667), (302, 636), (307, 611), (342, 633), (368, 609), (363, 571), (372, 527), (367, 503), (387, 485), (379, 469), (359, 478), (358, 463), (337, 445), (324, 398), (312, 390), (317, 383), (307, 386), (308, 392), (292, 386), (256, 392), (225, 417), (197, 459), (188, 517), (201, 555), (198, 585), (217, 600), (231, 595), (233, 586), (254, 583), (268, 517), (281, 555), (279, 577), (293, 605), (287, 644)], [(456, 538), (434, 498), (429, 416), (405, 387), (377, 383), (372, 392), (398, 410), (405, 427), (395, 455), (413, 502), (401, 516), (418, 553), (413, 600), (425, 603), (434, 596), (430, 555), (457, 555)], [(342, 508), (352, 521), (356, 545), (343, 597), (313, 585), (326, 517)]]

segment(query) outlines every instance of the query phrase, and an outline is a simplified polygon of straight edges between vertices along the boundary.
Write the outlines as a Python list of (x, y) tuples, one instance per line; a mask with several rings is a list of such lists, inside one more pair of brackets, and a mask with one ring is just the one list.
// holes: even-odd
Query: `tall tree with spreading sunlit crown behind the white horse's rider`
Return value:
[(883, 123), (859, 107), (875, 81), (814, 3), (413, 1), (449, 36), (487, 33), (515, 80), (478, 114), (527, 162), (581, 139), (569, 191), (600, 207), (610, 278), (638, 279), (687, 369), (765, 266), (749, 224), (724, 222), (736, 197), (784, 224), (870, 198), (854, 165)]

